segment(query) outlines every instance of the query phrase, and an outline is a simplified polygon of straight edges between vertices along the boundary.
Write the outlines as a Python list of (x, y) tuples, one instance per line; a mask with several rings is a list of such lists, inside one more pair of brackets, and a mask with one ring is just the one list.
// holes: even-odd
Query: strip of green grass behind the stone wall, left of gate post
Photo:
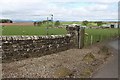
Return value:
[(6, 26), (2, 28), (2, 35), (58, 35), (66, 34), (65, 28), (49, 28), (34, 26)]

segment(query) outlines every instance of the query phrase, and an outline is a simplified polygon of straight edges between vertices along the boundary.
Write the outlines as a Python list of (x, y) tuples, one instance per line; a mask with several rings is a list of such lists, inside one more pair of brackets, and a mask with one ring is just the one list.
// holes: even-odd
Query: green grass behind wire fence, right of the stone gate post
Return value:
[[(104, 41), (118, 35), (118, 29), (86, 29), (88, 36), (85, 36), (85, 45)], [(92, 36), (92, 39), (91, 39)]]

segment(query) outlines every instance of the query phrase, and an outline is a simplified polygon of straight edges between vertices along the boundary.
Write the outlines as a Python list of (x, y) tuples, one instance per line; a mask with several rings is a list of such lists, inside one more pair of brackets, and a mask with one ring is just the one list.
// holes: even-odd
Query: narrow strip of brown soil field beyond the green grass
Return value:
[(33, 22), (0, 23), (2, 26), (33, 26)]

